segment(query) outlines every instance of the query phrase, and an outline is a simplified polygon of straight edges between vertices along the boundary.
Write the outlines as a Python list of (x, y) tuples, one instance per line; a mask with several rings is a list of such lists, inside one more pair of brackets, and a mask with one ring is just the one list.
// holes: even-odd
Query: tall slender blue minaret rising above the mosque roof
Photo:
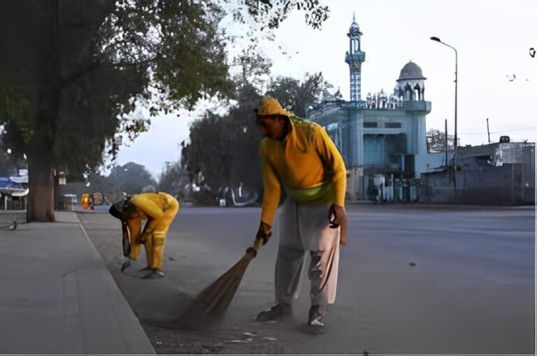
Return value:
[(350, 101), (361, 101), (361, 63), (366, 60), (366, 53), (360, 50), (360, 28), (352, 14), (349, 33), (349, 52), (345, 54), (345, 62), (350, 69)]

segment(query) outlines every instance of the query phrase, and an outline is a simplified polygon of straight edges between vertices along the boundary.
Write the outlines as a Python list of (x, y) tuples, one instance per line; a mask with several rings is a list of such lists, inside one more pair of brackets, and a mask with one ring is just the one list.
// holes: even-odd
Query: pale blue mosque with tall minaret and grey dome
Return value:
[(420, 174), (446, 166), (445, 152), (427, 152), (425, 118), (431, 112), (431, 101), (425, 100), (427, 78), (410, 61), (401, 69), (392, 94), (368, 93), (362, 100), (361, 64), (366, 53), (361, 50), (361, 35), (353, 16), (345, 54), (350, 101), (336, 93), (310, 108), (307, 118), (328, 131), (343, 155), (348, 199), (417, 200)]

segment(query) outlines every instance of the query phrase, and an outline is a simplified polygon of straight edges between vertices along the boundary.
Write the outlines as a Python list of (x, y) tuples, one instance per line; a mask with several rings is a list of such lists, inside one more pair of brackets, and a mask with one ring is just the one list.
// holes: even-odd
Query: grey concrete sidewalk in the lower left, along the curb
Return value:
[(0, 354), (154, 354), (73, 212), (0, 229)]

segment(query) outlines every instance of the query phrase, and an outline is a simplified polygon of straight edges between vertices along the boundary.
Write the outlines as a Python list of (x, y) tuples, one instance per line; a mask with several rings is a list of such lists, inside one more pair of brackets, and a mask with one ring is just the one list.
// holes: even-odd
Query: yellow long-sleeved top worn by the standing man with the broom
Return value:
[(345, 204), (347, 172), (327, 131), (292, 116), (284, 141), (264, 138), (261, 164), (264, 184), (261, 220), (273, 224), (281, 185), (302, 204)]

